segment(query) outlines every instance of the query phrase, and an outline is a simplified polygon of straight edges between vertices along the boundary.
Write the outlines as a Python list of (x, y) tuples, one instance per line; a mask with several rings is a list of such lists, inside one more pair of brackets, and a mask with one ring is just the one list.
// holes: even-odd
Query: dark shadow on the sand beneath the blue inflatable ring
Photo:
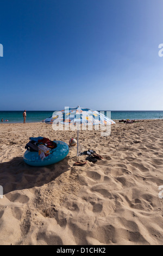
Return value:
[(42, 167), (29, 166), (23, 161), (23, 157), (15, 157), (9, 162), (0, 163), (0, 185), (3, 187), (3, 194), (40, 187), (55, 180), (70, 170), (69, 158), (70, 156), (67, 156), (58, 163)]

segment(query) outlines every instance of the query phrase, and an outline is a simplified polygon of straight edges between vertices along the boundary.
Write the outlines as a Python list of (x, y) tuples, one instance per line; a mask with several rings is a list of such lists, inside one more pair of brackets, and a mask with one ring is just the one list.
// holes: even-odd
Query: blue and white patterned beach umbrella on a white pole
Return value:
[[(79, 130), (81, 130), (80, 125), (82, 125), (82, 130), (92, 130), (94, 125), (111, 125), (115, 124), (113, 120), (106, 117), (101, 112), (89, 109), (89, 108), (69, 108), (65, 107), (65, 109), (61, 111), (55, 111), (53, 115), (49, 118), (43, 120), (46, 124), (52, 124), (54, 130), (59, 130), (57, 125), (65, 125), (65, 130), (77, 130), (77, 156), (79, 150)], [(68, 128), (66, 127), (68, 126)], [(60, 126), (62, 129), (63, 126)], [(55, 129), (56, 128), (56, 129)], [(98, 130), (98, 129), (96, 129)]]

